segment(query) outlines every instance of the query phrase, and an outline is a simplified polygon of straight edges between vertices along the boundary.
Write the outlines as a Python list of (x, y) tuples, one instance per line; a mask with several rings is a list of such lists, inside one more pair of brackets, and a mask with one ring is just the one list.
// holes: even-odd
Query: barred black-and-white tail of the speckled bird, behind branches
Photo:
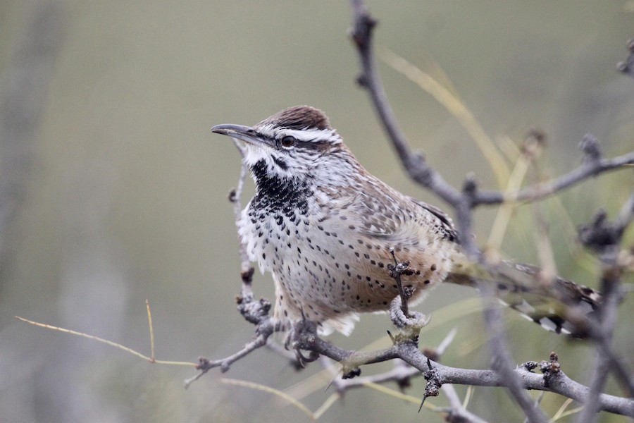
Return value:
[(483, 266), (462, 252), (453, 259), (447, 282), (487, 288), (504, 304), (550, 331), (585, 337), (588, 317), (597, 312), (602, 302), (602, 295), (596, 290), (548, 276), (537, 266), (505, 261)]

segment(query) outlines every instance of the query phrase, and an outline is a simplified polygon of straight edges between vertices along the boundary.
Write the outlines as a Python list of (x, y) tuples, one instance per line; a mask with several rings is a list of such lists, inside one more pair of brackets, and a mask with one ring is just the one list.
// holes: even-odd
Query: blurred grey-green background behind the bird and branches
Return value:
[[(544, 130), (545, 176), (579, 164), (577, 145), (585, 133), (599, 138), (607, 156), (634, 147), (634, 81), (616, 71), (626, 40), (634, 36), (632, 1), (368, 1), (368, 6), (379, 20), (378, 47), (434, 75), (441, 68), (495, 140), (520, 145), (530, 128)], [(36, 18), (42, 10), (44, 21)], [(195, 374), (191, 368), (151, 365), (13, 316), (149, 353), (147, 299), (159, 359), (218, 358), (249, 341), (253, 327), (235, 311), (238, 243), (226, 200), (240, 159), (226, 137), (209, 132), (218, 123), (251, 125), (287, 106), (317, 106), (369, 171), (446, 207), (404, 176), (366, 92), (356, 87), (350, 15), (345, 1), (1, 2), (4, 107), (11, 107), (8, 75), (15, 75), (23, 59), (20, 46), (30, 31), (37, 32), (47, 16), (58, 30), (49, 39), (56, 45), (51, 66), (34, 86), (42, 109), (25, 140), (26, 167), (7, 159), (11, 146), (1, 140), (3, 171), (23, 177), (20, 202), (2, 240), (0, 422), (308, 419), (270, 393), (223, 384), (217, 370), (185, 391), (182, 381)], [(415, 149), (454, 184), (474, 172), (483, 187), (498, 188), (456, 118), (385, 63), (380, 72)], [(33, 95), (23, 92), (25, 98)], [(596, 286), (596, 261), (576, 244), (575, 228), (599, 207), (614, 216), (633, 189), (632, 171), (619, 171), (542, 203), (559, 273)], [(476, 213), (481, 245), (495, 212)], [(518, 211), (504, 238), (504, 255), (537, 262), (534, 223), (530, 207)], [(255, 288), (270, 296), (270, 276), (258, 274)], [(474, 295), (442, 286), (418, 307), (436, 311), (422, 345), (433, 347), (449, 329), (458, 331), (445, 364), (489, 365), (480, 314), (448, 320), (444, 316), (456, 307), (442, 309)], [(630, 367), (632, 305), (629, 298), (623, 302), (615, 336), (615, 348)], [(513, 312), (505, 315), (517, 362), (546, 360), (556, 350), (567, 374), (588, 381), (591, 345), (545, 333)], [(370, 315), (349, 338), (331, 338), (361, 348), (386, 329), (387, 316)], [(320, 371), (315, 363), (295, 372), (282, 357), (259, 350), (223, 376), (285, 390)], [(316, 384), (302, 402), (316, 410), (334, 392), (324, 388)], [(424, 381), (416, 380), (408, 393), (420, 396), (423, 388)], [(616, 384), (607, 388), (622, 395)], [(458, 391), (464, 395), (466, 389)], [(428, 402), (446, 404), (442, 396)], [(563, 402), (552, 395), (543, 400), (549, 415)], [(500, 389), (476, 388), (468, 408), (491, 421), (521, 421), (510, 403)], [(356, 390), (321, 421), (442, 421), (435, 412), (416, 410), (383, 393)], [(604, 422), (622, 420), (602, 416)]]

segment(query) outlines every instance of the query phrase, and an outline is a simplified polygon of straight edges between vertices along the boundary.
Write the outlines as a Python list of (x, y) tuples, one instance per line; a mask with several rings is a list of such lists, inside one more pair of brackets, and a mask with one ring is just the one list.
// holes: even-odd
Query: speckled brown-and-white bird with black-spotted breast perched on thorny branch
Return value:
[(238, 233), (251, 262), (273, 275), (273, 319), (284, 330), (309, 320), (321, 335), (349, 335), (359, 314), (388, 311), (401, 292), (390, 273), (396, 259), (411, 269), (401, 276), (410, 305), (443, 281), (475, 287), (484, 281), (546, 329), (578, 334), (566, 310), (592, 314), (600, 306), (591, 288), (559, 277), (540, 283), (535, 266), (478, 268), (452, 219), (366, 171), (319, 109), (293, 106), (254, 126), (211, 130), (244, 145), (256, 192)]

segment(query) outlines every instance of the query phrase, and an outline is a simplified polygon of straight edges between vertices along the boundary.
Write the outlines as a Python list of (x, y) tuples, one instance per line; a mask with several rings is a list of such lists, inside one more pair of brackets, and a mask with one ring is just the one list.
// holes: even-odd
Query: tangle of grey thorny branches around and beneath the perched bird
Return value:
[[(396, 123), (376, 70), (372, 49), (372, 32), (376, 21), (370, 16), (362, 0), (352, 0), (352, 9), (354, 24), (351, 36), (361, 60), (361, 75), (357, 79), (359, 84), (366, 88), (371, 95), (380, 121), (383, 123), (387, 135), (409, 176), (425, 188), (435, 192), (454, 208), (461, 245), (471, 257), (475, 257), (479, 262), (485, 264), (482, 253), (478, 250), (471, 236), (469, 236), (471, 233), (472, 211), (475, 207), (486, 204), (501, 204), (508, 201), (534, 202), (592, 176), (634, 164), (634, 152), (612, 159), (604, 159), (597, 140), (587, 135), (580, 143), (580, 148), (585, 154), (584, 163), (559, 178), (509, 193), (480, 191), (475, 183), (475, 178), (470, 176), (464, 183), (463, 188), (456, 190), (440, 176), (440, 173), (437, 173), (429, 166), (421, 155), (414, 154), (411, 151), (409, 143)], [(619, 70), (633, 75), (634, 42), (631, 40), (628, 43), (628, 49), (630, 50), (630, 55), (625, 62), (619, 64)], [(240, 145), (237, 144), (237, 147), (242, 152)], [(246, 168), (243, 166), (240, 181), (237, 185), (238, 188), (230, 194), (230, 200), (235, 208), (236, 220), (240, 218), (240, 194), (242, 193), (245, 176)], [(399, 290), (399, 297), (394, 299), (392, 307), (390, 307), (392, 321), (397, 327), (401, 328), (392, 336), (392, 347), (371, 352), (344, 350), (321, 339), (317, 335), (316, 325), (311, 321), (302, 321), (295, 325), (292, 333), (293, 346), (298, 352), (299, 350), (310, 351), (313, 354), (312, 357), (321, 355), (339, 362), (342, 365), (343, 378), (334, 382), (338, 391), (363, 386), (363, 384), (368, 382), (385, 383), (387, 381), (395, 381), (399, 386), (405, 387), (409, 384), (411, 377), (423, 374), (425, 379), (428, 379), (428, 387), (425, 389), (423, 398), (437, 395), (437, 389), (440, 387), (443, 390), (447, 389), (447, 396), (452, 405), (447, 411), (449, 412), (449, 417), (453, 413), (455, 418), (452, 421), (480, 422), (481, 419), (461, 407), (455, 391), (450, 388), (450, 384), (504, 386), (509, 389), (509, 393), (531, 422), (547, 422), (548, 419), (538, 407), (538, 403), (535, 403), (526, 395), (525, 391), (530, 389), (558, 393), (561, 396), (587, 404), (581, 416), (581, 422), (593, 421), (596, 419), (597, 411), (599, 410), (634, 417), (634, 400), (632, 398), (619, 398), (601, 393), (608, 372), (616, 374), (616, 377), (628, 389), (630, 396), (634, 393), (634, 381), (628, 369), (626, 369), (622, 360), (616, 357), (611, 348), (611, 335), (616, 321), (616, 307), (623, 295), (621, 274), (625, 266), (619, 262), (619, 243), (623, 232), (633, 219), (634, 194), (623, 206), (621, 213), (613, 223), (607, 221), (607, 216), (604, 213), (599, 213), (591, 225), (580, 230), (580, 240), (599, 253), (603, 264), (602, 288), (604, 291), (604, 303), (602, 309), (599, 310), (599, 321), (591, 324), (589, 329), (590, 337), (597, 342), (597, 356), (593, 367), (595, 373), (592, 375), (590, 386), (583, 386), (569, 379), (561, 369), (559, 357), (554, 353), (551, 354), (549, 361), (540, 363), (526, 362), (516, 367), (506, 348), (501, 323), (502, 318), (499, 315), (499, 310), (495, 309), (495, 307), (487, 307), (485, 312), (487, 330), (491, 338), (490, 347), (493, 352), (492, 369), (458, 369), (431, 361), (430, 358), (434, 359), (435, 355), (430, 352), (421, 353), (418, 348), (418, 331), (424, 326), (424, 322), (420, 315), (416, 316), (418, 319), (409, 319), (406, 305), (408, 295), (403, 289)], [(280, 327), (275, 326), (273, 319), (268, 315), (271, 308), (270, 302), (264, 299), (254, 299), (251, 288), (253, 268), (249, 264), (244, 246), (240, 249), (240, 257), (242, 260), (242, 290), (237, 299), (238, 309), (247, 321), (256, 325), (255, 337), (247, 345), (244, 345), (242, 350), (224, 359), (211, 361), (201, 358), (199, 364), (200, 373), (186, 381), (187, 385), (214, 367), (220, 367), (222, 372), (227, 371), (233, 362), (240, 360), (240, 358), (251, 353), (251, 351), (267, 345), (268, 338), (276, 331), (280, 331)], [(394, 262), (393, 269), (391, 269), (392, 277), (398, 283), (400, 274), (413, 269), (409, 269), (406, 263), (397, 262), (396, 257), (394, 257)], [(486, 288), (483, 287), (483, 290), (486, 290)], [(483, 300), (487, 301), (491, 298), (486, 292), (484, 293)], [(360, 367), (363, 365), (396, 359), (399, 359), (397, 360), (397, 365), (389, 372), (352, 379), (355, 376), (359, 376)], [(301, 360), (299, 364), (301, 364)], [(542, 374), (533, 372), (536, 368), (539, 368)]]

